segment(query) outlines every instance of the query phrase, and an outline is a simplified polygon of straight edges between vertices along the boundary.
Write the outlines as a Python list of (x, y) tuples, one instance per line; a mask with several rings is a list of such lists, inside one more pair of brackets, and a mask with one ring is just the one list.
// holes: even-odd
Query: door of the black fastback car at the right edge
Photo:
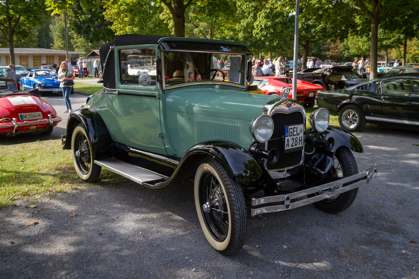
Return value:
[(396, 123), (419, 125), (419, 77), (381, 81), (383, 116)]

